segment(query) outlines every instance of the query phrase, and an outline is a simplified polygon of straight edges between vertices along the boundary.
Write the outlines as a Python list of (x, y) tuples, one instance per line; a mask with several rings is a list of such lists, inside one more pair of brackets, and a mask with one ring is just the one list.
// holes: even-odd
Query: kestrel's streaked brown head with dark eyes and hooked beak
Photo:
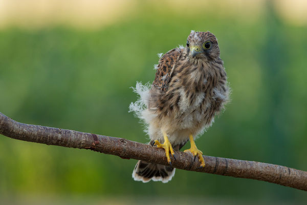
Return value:
[(217, 39), (213, 33), (192, 31), (187, 39), (186, 51), (189, 58), (216, 59), (220, 57)]

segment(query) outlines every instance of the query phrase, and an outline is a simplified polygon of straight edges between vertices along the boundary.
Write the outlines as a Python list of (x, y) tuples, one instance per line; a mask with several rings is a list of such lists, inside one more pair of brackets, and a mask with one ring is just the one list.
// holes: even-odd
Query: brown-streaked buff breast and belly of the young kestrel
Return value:
[(226, 80), (222, 60), (210, 63), (179, 60), (167, 91), (157, 100), (161, 126), (169, 132), (176, 128), (193, 134), (209, 127), (228, 99)]

